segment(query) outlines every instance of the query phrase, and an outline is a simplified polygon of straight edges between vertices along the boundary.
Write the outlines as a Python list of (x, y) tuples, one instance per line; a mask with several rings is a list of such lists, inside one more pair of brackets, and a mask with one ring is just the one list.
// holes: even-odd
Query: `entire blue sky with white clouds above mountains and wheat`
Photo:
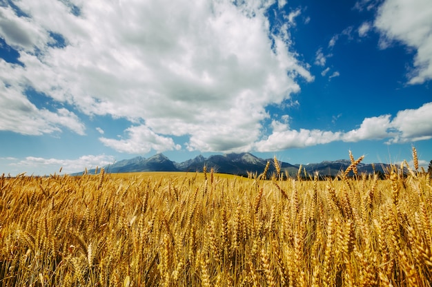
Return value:
[(0, 1), (0, 173), (432, 160), (429, 0)]

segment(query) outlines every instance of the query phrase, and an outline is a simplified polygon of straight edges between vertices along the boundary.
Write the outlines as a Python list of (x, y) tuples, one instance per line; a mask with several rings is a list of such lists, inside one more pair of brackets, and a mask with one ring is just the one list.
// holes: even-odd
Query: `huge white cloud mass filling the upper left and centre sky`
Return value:
[[(170, 136), (189, 136), (189, 149), (247, 150), (259, 138), (266, 106), (299, 92), (298, 77), (313, 81), (297, 61), (288, 27), (271, 32), (265, 13), (274, 0), (73, 3), (78, 16), (64, 1), (18, 1), (25, 18), (0, 8), (0, 36), (24, 64), (1, 63), (2, 76), (8, 75), (1, 78), (3, 89), (15, 98), (2, 123), (18, 116), (18, 132), (68, 127), (84, 134), (71, 111), (48, 112), (30, 103), (22, 87), (32, 87), (80, 113), (130, 120), (130, 138), (101, 138), (117, 150), (173, 149)], [(53, 46), (50, 32), (61, 34), (66, 47)], [(28, 111), (36, 129), (23, 127)]]

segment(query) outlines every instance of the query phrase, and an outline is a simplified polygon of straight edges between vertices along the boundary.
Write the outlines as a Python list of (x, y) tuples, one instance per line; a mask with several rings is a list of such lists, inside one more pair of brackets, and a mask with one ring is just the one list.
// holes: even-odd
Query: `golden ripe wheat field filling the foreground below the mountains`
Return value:
[(348, 178), (360, 160), (335, 180), (3, 176), (0, 286), (431, 286), (429, 176)]

